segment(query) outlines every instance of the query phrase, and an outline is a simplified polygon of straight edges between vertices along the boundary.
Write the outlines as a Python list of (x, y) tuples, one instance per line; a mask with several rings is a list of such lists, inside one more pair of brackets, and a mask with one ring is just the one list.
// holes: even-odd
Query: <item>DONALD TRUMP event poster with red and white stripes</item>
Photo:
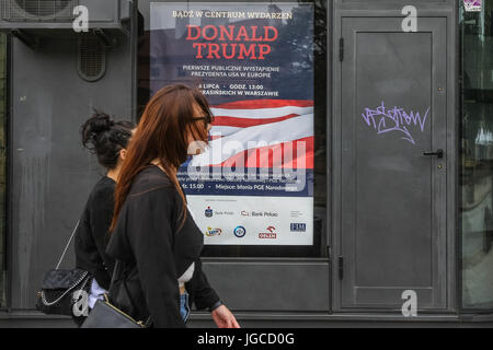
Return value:
[(195, 82), (209, 147), (179, 171), (213, 245), (313, 244), (313, 7), (152, 2), (151, 94)]

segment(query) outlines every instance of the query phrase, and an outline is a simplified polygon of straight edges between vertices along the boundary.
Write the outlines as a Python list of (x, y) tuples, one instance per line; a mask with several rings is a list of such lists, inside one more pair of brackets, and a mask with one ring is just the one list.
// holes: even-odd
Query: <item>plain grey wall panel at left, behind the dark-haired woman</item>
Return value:
[[(92, 107), (130, 119), (131, 50), (127, 37), (107, 49), (106, 72), (87, 82), (77, 71), (77, 40), (44, 37), (33, 50), (12, 42), (9, 294), (13, 310), (34, 308), (43, 275), (54, 268), (99, 176), (82, 149), (80, 126)], [(73, 246), (64, 266), (73, 266)]]

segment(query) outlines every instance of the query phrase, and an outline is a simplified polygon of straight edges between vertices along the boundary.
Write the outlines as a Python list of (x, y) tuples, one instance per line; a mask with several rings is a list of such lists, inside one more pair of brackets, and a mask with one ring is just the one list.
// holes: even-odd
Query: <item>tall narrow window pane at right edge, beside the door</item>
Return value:
[(493, 1), (460, 1), (462, 306), (493, 307)]

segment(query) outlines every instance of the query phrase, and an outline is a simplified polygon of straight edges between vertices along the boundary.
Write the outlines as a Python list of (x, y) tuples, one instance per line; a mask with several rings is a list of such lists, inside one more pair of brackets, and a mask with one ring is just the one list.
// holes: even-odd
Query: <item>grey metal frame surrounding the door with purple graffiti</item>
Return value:
[[(405, 3), (404, 3), (405, 2)], [(404, 1), (401, 3), (370, 3), (365, 0), (334, 0), (333, 4), (333, 39), (332, 39), (332, 185), (331, 185), (331, 201), (332, 201), (332, 222), (331, 222), (331, 238), (332, 238), (332, 264), (331, 264), (331, 291), (332, 291), (332, 311), (334, 313), (355, 313), (355, 312), (389, 312), (388, 308), (378, 310), (375, 307), (342, 307), (342, 281), (339, 278), (339, 257), (342, 254), (342, 206), (341, 206), (341, 126), (342, 126), (342, 65), (339, 59), (340, 38), (342, 37), (342, 21), (344, 18), (400, 18), (404, 19), (401, 13), (402, 8), (406, 4), (415, 5), (417, 15), (433, 16), (446, 19), (446, 149), (447, 158), (445, 166), (447, 167), (446, 191), (447, 199), (446, 208), (446, 242), (445, 261), (446, 270), (440, 271), (445, 273), (446, 302), (445, 307), (433, 311), (419, 311), (421, 313), (454, 313), (458, 306), (457, 293), (457, 247), (458, 247), (458, 215), (457, 215), (457, 195), (458, 195), (458, 96), (457, 96), (457, 4), (454, 0), (433, 1)], [(419, 313), (420, 314), (420, 313)]]

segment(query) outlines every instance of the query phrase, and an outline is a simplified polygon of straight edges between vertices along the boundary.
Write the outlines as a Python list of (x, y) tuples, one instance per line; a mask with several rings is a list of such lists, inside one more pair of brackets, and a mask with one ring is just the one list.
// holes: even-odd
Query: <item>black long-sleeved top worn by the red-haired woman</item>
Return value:
[[(135, 318), (151, 316), (156, 327), (185, 327), (180, 314), (177, 279), (192, 262), (194, 275), (185, 288), (198, 310), (219, 301), (202, 271), (204, 235), (186, 212), (168, 175), (149, 165), (135, 178), (122, 207), (106, 253), (124, 265)], [(117, 305), (121, 306), (121, 305)]]

